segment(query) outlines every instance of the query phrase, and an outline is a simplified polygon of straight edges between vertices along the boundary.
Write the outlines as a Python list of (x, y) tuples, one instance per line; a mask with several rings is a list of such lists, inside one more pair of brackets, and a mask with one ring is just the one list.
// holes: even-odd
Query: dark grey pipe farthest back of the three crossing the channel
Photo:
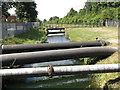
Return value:
[(109, 45), (108, 41), (83, 41), (69, 43), (44, 43), (44, 44), (17, 44), (17, 45), (2, 45), (2, 53), (20, 53), (55, 49), (68, 49), (80, 47), (95, 47)]

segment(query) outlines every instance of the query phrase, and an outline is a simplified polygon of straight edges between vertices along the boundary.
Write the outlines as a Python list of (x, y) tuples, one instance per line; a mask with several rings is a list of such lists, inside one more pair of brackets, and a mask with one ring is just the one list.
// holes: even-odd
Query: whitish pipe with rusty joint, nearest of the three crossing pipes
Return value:
[(98, 65), (77, 65), (77, 66), (55, 66), (50, 73), (49, 67), (39, 68), (17, 68), (0, 69), (0, 76), (21, 76), (21, 77), (40, 77), (40, 76), (59, 76), (73, 74), (91, 74), (91, 73), (111, 73), (120, 72), (120, 64), (98, 64)]

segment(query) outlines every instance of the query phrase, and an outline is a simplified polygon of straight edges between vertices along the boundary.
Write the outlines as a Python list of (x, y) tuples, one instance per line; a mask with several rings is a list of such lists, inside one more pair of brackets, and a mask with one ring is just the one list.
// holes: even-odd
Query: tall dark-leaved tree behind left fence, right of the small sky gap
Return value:
[(38, 12), (35, 2), (16, 2), (16, 14), (21, 21), (36, 21)]

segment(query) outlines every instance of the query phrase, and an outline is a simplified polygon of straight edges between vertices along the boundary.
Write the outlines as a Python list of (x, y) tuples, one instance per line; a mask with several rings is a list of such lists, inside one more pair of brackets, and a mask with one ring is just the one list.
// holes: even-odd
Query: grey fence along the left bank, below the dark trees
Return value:
[(40, 25), (40, 22), (27, 22), (27, 23), (1, 23), (0, 39), (7, 38), (8, 36), (16, 36), (22, 34), (34, 27)]

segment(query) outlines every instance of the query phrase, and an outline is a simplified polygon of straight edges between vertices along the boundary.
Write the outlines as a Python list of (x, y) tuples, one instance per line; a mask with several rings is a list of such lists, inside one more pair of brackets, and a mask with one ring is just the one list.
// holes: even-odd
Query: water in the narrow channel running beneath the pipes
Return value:
[[(64, 34), (48, 35), (48, 43), (70, 42)], [(66, 66), (83, 64), (80, 60), (60, 60), (24, 65), (24, 67), (44, 67), (48, 65)], [(49, 77), (11, 78), (4, 83), (5, 88), (86, 88), (90, 83), (88, 75), (64, 75)]]

